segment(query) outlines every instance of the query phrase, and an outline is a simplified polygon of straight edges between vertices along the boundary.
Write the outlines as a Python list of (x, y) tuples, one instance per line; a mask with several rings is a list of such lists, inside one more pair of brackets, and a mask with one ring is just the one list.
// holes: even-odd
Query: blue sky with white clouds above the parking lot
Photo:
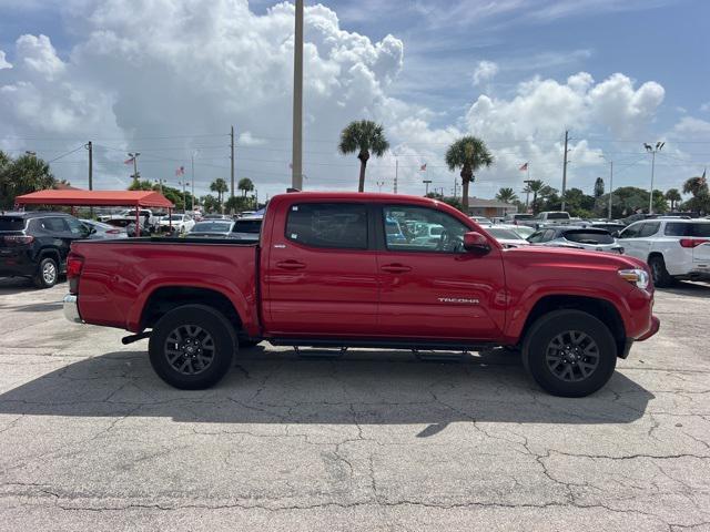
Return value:
[[(130, 184), (139, 151), (143, 178), (202, 195), (229, 181), (234, 125), (236, 180), (260, 200), (290, 186), (292, 3), (0, 0), (0, 150), (87, 187), (92, 141), (104, 190)], [(450, 195), (444, 154), (467, 134), (495, 157), (471, 196), (520, 194), (528, 177), (561, 188), (565, 131), (570, 187), (608, 188), (613, 161), (615, 187), (648, 188), (643, 143), (659, 141), (655, 186), (681, 187), (710, 165), (708, 20), (704, 0), (306, 1), (304, 188), (356, 190), (359, 163), (336, 147), (359, 119), (390, 143), (369, 191), (396, 176), (399, 193), (430, 180)]]

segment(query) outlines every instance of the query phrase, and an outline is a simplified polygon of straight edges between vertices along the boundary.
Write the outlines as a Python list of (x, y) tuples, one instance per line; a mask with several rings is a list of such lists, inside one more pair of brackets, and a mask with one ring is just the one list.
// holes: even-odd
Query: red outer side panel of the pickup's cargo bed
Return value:
[[(158, 290), (213, 290), (257, 327), (258, 244), (215, 238), (145, 237), (80, 241), (83, 257), (79, 313), (88, 323), (138, 332), (146, 303)], [(246, 313), (246, 314), (242, 314)]]

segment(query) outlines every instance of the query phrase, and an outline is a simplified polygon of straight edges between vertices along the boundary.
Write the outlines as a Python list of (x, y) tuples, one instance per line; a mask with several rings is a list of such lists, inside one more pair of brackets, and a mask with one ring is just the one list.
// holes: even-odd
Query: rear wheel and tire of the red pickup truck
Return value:
[(185, 305), (163, 316), (151, 334), (151, 366), (170, 386), (203, 390), (230, 370), (237, 349), (234, 328), (213, 307)]

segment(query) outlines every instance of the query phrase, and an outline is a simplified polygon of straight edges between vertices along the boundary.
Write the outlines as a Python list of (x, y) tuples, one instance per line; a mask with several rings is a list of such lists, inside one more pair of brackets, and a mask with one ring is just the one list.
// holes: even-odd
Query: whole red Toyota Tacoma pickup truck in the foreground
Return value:
[(659, 327), (647, 266), (605, 253), (504, 249), (428, 198), (290, 193), (260, 242), (134, 238), (72, 244), (73, 321), (150, 337), (166, 382), (202, 389), (245, 345), (519, 348), (550, 393), (601, 388)]

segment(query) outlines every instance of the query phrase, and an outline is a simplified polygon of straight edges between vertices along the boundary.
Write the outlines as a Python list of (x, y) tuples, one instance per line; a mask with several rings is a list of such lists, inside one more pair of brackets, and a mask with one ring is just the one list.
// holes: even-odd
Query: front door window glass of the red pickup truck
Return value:
[(385, 245), (394, 252), (462, 253), (469, 228), (446, 213), (414, 205), (383, 208)]

